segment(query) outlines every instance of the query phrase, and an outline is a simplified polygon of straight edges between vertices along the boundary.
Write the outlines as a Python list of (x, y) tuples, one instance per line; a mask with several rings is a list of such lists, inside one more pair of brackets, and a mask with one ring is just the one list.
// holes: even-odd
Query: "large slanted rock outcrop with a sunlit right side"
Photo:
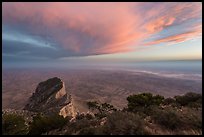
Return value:
[(64, 82), (57, 77), (39, 83), (24, 109), (44, 114), (59, 113), (64, 117), (76, 116), (71, 95), (66, 92)]

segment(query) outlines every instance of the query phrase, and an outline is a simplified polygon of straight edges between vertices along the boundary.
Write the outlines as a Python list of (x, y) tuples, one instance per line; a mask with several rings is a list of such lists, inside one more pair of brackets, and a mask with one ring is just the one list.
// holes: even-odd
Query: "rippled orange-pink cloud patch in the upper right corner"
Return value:
[(145, 24), (149, 33), (160, 32), (169, 26), (184, 23), (189, 19), (202, 18), (201, 3), (167, 3), (156, 8), (157, 10), (147, 11), (149, 17), (156, 17)]

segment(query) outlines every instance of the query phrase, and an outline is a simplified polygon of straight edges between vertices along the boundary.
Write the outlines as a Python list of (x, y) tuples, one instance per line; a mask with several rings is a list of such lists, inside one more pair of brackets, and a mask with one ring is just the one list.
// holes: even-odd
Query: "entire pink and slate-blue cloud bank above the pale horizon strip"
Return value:
[(111, 54), (202, 36), (201, 3), (4, 2), (2, 8), (8, 55), (12, 49), (46, 58)]

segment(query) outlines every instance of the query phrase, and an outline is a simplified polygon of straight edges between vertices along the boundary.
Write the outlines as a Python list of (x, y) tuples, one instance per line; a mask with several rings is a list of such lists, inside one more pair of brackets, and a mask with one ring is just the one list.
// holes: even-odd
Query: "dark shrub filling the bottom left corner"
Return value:
[(3, 114), (2, 116), (2, 134), (3, 135), (26, 135), (28, 127), (25, 120), (17, 114)]

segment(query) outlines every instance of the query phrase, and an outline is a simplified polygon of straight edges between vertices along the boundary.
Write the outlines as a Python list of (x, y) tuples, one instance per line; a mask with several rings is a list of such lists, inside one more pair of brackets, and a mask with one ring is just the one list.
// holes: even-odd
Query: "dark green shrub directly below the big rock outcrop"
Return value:
[(62, 128), (68, 121), (69, 118), (64, 118), (58, 114), (52, 116), (42, 116), (38, 114), (33, 118), (29, 134), (40, 135), (53, 129)]

